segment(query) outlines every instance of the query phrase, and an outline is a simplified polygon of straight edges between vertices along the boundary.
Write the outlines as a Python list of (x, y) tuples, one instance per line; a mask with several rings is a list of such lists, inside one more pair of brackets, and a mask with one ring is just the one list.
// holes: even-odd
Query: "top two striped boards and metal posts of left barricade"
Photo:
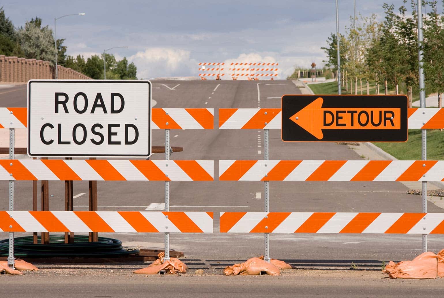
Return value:
[[(14, 211), (15, 180), (158, 180), (165, 181), (165, 212), (170, 211), (170, 181), (212, 181), (214, 161), (169, 161), (170, 129), (213, 129), (214, 110), (153, 108), (153, 129), (165, 129), (166, 161), (14, 160), (14, 129), (27, 127), (26, 108), (0, 108), (0, 128), (10, 129), (9, 160), (1, 161), (0, 180), (10, 180), (9, 211)], [(6, 168), (4, 168), (4, 167)], [(14, 234), (9, 234), (8, 264), (14, 266)], [(165, 232), (165, 259), (169, 233)]]

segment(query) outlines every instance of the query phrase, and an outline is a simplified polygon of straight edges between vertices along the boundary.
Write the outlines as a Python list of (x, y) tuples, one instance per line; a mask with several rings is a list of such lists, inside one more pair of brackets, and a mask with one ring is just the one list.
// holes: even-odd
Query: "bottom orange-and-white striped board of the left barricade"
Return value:
[(0, 211), (0, 231), (212, 233), (213, 212)]

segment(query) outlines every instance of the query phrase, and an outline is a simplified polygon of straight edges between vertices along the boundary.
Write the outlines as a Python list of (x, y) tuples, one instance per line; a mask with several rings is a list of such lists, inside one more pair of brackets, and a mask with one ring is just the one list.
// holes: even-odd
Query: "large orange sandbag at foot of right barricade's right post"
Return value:
[(412, 261), (394, 263), (385, 267), (389, 278), (436, 278), (438, 274), (438, 255), (428, 251), (418, 255)]

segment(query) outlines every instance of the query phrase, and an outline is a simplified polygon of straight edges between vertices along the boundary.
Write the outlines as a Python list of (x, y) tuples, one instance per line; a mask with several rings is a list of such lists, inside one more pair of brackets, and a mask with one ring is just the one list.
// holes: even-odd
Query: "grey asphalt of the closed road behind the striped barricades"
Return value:
[[(152, 81), (156, 107), (214, 108), (214, 127), (218, 127), (218, 108), (280, 108), (281, 96), (300, 94), (290, 81)], [(219, 85), (220, 84), (220, 85)], [(2, 94), (0, 106), (26, 106), (23, 86)], [(8, 89), (9, 90), (9, 89)], [(164, 144), (163, 130), (153, 130), (153, 145)], [(218, 160), (263, 159), (262, 130), (171, 130), (171, 145), (183, 147), (171, 159), (215, 161), (214, 182), (171, 182), (171, 211), (263, 211), (262, 182), (218, 181)], [(154, 154), (151, 159), (164, 159)], [(346, 145), (334, 143), (284, 143), (280, 131), (270, 130), (270, 159), (358, 160), (359, 155)], [(49, 182), (50, 210), (63, 210), (63, 182)], [(286, 212), (420, 212), (421, 197), (407, 195), (407, 187), (398, 182), (270, 182), (270, 210)], [(163, 182), (98, 182), (99, 210), (142, 211), (152, 203), (163, 203)], [(258, 199), (258, 192), (262, 194)], [(87, 210), (88, 183), (74, 182), (75, 210)], [(0, 182), (0, 210), (8, 209), (8, 183)], [(32, 208), (32, 183), (16, 182), (16, 210)], [(226, 207), (214, 207), (214, 206)], [(180, 206), (180, 207), (176, 207)], [(194, 207), (204, 206), (204, 207)], [(428, 212), (443, 212), (428, 203)], [(263, 254), (262, 234), (220, 234), (218, 214), (213, 234), (171, 234), (170, 247), (183, 251), (188, 259), (206, 263), (245, 260)], [(20, 234), (22, 235), (22, 234)], [(148, 243), (163, 247), (163, 234), (106, 234), (123, 242)], [(0, 238), (7, 237), (0, 233)], [(444, 248), (440, 235), (429, 235), (430, 251)], [(342, 266), (382, 260), (412, 259), (421, 252), (420, 235), (343, 235), (276, 234), (271, 235), (270, 254), (305, 267), (329, 267), (336, 260)], [(222, 262), (222, 263), (224, 263)], [(337, 262), (336, 262), (337, 263)], [(347, 287), (347, 285), (345, 285)], [(214, 293), (219, 293), (214, 288)], [(352, 291), (353, 286), (349, 286)], [(180, 290), (178, 288), (178, 290)], [(319, 287), (318, 294), (328, 294)], [(357, 289), (354, 289), (357, 290)], [(160, 292), (159, 292), (160, 293)], [(254, 293), (252, 290), (251, 293)], [(265, 293), (259, 291), (259, 293)], [(272, 292), (270, 292), (272, 293)], [(288, 292), (290, 293), (290, 291)], [(303, 292), (299, 292), (303, 293)], [(350, 292), (345, 292), (350, 293)], [(366, 292), (367, 293), (367, 292)], [(373, 292), (381, 291), (375, 288)], [(210, 293), (208, 293), (210, 294)], [(242, 294), (243, 295), (243, 294)], [(352, 292), (352, 296), (353, 292)], [(373, 296), (373, 295), (372, 295)]]

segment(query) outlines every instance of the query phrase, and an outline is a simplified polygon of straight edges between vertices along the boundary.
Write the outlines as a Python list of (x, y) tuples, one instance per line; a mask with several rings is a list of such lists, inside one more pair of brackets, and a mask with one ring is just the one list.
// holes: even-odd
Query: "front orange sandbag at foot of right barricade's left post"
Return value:
[(225, 275), (259, 275), (265, 271), (268, 275), (279, 275), (279, 268), (259, 258), (248, 259), (245, 263), (234, 264), (223, 270)]

